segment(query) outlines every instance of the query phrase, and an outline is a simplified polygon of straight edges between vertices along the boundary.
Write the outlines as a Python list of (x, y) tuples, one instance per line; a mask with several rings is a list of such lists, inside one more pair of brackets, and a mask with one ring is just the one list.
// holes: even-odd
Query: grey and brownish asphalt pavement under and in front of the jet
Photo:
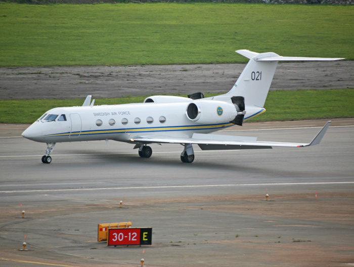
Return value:
[[(309, 142), (324, 123), (218, 134)], [(319, 146), (196, 147), (192, 164), (181, 162), (180, 145), (152, 145), (143, 159), (112, 141), (57, 144), (43, 164), (46, 145), (20, 137), (24, 128), (0, 125), (1, 266), (139, 266), (142, 257), (146, 266), (354, 264), (354, 119), (333, 120)], [(119, 221), (153, 227), (153, 245), (97, 242), (97, 224)], [(19, 251), (25, 235), (29, 250)]]

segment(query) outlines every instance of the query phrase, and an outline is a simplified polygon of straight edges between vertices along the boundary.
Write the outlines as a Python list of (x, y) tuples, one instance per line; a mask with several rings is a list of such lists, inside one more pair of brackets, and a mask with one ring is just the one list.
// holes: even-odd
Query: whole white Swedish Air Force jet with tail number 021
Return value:
[(194, 160), (193, 145), (202, 150), (263, 149), (317, 145), (330, 121), (311, 143), (259, 142), (253, 137), (211, 135), (210, 132), (243, 122), (265, 112), (263, 108), (278, 61), (332, 61), (341, 58), (282, 57), (275, 53), (238, 50), (249, 62), (232, 89), (224, 95), (204, 98), (152, 96), (144, 103), (94, 106), (87, 96), (82, 106), (47, 111), (22, 136), (47, 143), (43, 163), (51, 163), (56, 143), (114, 140), (134, 144), (139, 156), (149, 158), (148, 144), (176, 143), (184, 146), (182, 162)]

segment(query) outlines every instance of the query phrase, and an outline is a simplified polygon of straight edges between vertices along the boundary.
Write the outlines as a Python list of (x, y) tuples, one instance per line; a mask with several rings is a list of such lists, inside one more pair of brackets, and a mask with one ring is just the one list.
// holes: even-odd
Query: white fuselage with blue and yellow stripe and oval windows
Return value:
[[(160, 136), (168, 133), (171, 137), (190, 138), (196, 131), (209, 133), (234, 125), (230, 121), (235, 114), (228, 116), (223, 112), (218, 115), (216, 108), (209, 111), (214, 113), (210, 123), (191, 121), (186, 115), (190, 103), (187, 101), (54, 108), (35, 121), (22, 135), (43, 143), (105, 139), (129, 142), (132, 137), (151, 133)], [(221, 110), (225, 110), (224, 106), (229, 103), (219, 104)], [(50, 114), (57, 116), (55, 120), (46, 120)]]

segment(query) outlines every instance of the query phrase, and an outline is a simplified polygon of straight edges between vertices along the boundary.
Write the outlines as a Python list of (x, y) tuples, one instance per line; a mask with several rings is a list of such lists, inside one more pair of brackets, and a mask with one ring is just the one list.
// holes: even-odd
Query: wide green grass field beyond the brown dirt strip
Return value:
[(0, 3), (0, 66), (246, 62), (237, 49), (354, 60), (354, 7)]

